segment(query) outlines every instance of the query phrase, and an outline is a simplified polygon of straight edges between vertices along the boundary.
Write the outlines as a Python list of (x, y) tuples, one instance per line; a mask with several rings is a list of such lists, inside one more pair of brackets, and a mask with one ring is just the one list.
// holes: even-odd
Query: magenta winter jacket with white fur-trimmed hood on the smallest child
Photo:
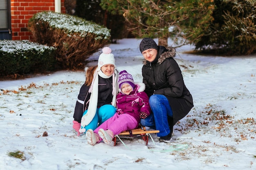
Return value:
[(148, 102), (148, 95), (144, 92), (145, 84), (135, 84), (134, 90), (129, 94), (118, 93), (117, 95), (117, 108), (121, 109), (124, 113), (133, 116), (139, 125), (140, 112), (150, 114), (151, 109)]

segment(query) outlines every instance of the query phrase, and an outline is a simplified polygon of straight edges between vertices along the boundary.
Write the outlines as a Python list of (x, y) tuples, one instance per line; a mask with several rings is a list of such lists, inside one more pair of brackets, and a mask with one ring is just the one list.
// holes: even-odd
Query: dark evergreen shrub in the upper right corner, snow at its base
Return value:
[(256, 8), (244, 0), (214, 1), (214, 21), (196, 44), (196, 49), (222, 55), (256, 52)]

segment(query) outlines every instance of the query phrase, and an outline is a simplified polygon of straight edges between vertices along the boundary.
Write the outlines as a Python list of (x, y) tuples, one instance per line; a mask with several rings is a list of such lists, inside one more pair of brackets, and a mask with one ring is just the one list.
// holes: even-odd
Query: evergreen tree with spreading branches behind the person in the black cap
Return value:
[(214, 9), (213, 0), (101, 0), (101, 7), (113, 14), (122, 14), (129, 30), (138, 38), (167, 39), (177, 44), (200, 40)]

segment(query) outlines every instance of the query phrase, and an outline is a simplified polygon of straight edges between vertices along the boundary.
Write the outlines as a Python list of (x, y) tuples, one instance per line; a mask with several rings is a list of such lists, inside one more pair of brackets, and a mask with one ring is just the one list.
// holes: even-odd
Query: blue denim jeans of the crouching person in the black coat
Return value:
[(157, 133), (158, 137), (168, 135), (171, 130), (167, 117), (173, 117), (173, 110), (168, 99), (164, 95), (152, 95), (149, 98), (149, 105), (153, 113), (146, 119), (141, 119), (141, 125), (159, 130), (159, 133)]

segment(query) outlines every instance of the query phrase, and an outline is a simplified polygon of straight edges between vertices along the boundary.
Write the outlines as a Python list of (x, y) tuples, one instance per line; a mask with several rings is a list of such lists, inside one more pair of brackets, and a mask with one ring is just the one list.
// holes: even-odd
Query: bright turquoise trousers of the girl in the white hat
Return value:
[[(85, 110), (83, 115), (87, 113), (88, 110)], [(85, 129), (92, 129), (95, 130), (98, 127), (98, 124), (101, 125), (104, 121), (108, 120), (110, 117), (115, 115), (117, 109), (112, 106), (111, 104), (105, 104), (101, 106), (100, 108), (97, 108), (96, 114), (90, 124), (85, 126)]]

